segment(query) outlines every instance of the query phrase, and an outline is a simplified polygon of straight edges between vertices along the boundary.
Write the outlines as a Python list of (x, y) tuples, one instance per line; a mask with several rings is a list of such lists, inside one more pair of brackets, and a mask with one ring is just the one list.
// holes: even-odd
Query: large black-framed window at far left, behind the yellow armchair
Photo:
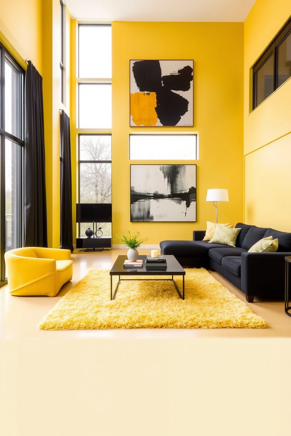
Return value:
[(3, 253), (22, 245), (24, 70), (0, 44), (0, 284)]

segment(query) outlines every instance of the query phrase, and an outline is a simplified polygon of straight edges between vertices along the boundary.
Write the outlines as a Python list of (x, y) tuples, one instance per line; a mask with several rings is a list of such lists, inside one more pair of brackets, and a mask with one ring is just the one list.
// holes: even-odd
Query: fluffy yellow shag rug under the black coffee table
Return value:
[[(46, 330), (264, 328), (266, 321), (206, 269), (186, 269), (185, 300), (171, 281), (123, 278), (110, 300), (109, 270), (92, 269), (38, 324)], [(113, 276), (113, 291), (117, 283)], [(136, 278), (142, 278), (136, 276)], [(157, 278), (162, 278), (157, 277)], [(182, 289), (182, 277), (175, 276)]]

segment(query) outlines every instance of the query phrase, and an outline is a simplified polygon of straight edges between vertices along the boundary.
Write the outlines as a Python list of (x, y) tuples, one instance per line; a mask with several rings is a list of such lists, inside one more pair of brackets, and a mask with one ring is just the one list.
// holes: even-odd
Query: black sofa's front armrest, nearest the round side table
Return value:
[(284, 296), (284, 258), (290, 255), (290, 252), (242, 253), (241, 290), (246, 295)]

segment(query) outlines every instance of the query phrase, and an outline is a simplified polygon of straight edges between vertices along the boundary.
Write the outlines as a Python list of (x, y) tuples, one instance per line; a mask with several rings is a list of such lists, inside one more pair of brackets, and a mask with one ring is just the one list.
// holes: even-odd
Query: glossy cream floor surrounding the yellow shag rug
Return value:
[[(150, 250), (140, 249), (140, 254)], [(284, 313), (284, 301), (255, 299), (246, 303), (257, 315), (267, 321), (267, 329), (124, 329), (124, 330), (39, 330), (37, 324), (54, 307), (55, 303), (77, 283), (89, 269), (110, 269), (117, 255), (126, 254), (125, 249), (104, 250), (103, 252), (75, 251), (72, 282), (66, 283), (57, 296), (19, 297), (9, 293), (8, 286), (0, 289), (0, 339), (21, 338), (179, 338), (179, 337), (291, 337), (291, 317)], [(230, 292), (245, 300), (244, 294), (218, 273), (212, 272)], [(108, 296), (110, 297), (110, 296)]]

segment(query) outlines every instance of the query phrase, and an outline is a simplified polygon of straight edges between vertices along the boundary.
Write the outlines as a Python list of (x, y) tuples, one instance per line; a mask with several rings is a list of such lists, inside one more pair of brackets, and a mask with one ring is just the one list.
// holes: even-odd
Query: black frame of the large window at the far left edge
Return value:
[[(7, 283), (4, 253), (6, 251), (6, 219), (5, 219), (5, 139), (11, 140), (13, 143), (19, 145), (20, 148), (20, 245), (23, 245), (23, 164), (24, 164), (24, 80), (25, 70), (7, 50), (7, 48), (0, 43), (0, 286)], [(20, 92), (20, 138), (8, 133), (5, 130), (5, 59), (7, 59), (13, 66), (21, 73), (21, 92)]]

